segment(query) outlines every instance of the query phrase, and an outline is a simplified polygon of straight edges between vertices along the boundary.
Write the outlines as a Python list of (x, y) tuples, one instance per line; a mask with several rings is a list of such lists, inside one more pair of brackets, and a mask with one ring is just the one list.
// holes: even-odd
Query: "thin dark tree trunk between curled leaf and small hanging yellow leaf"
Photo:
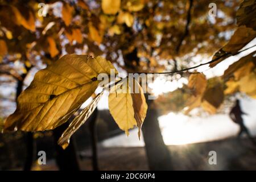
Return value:
[(92, 166), (93, 171), (98, 171), (98, 151), (97, 151), (97, 115), (98, 109), (96, 108), (92, 115), (90, 115), (89, 129), (90, 140), (92, 144)]

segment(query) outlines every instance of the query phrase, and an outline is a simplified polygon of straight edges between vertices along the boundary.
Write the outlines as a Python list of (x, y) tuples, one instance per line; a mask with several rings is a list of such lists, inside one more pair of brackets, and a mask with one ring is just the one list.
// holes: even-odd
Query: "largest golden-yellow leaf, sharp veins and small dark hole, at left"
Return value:
[[(17, 108), (5, 122), (5, 131), (52, 130), (94, 93), (100, 73), (110, 75), (110, 61), (88, 55), (65, 55), (36, 73), (17, 101)], [(116, 71), (116, 70), (115, 70)]]

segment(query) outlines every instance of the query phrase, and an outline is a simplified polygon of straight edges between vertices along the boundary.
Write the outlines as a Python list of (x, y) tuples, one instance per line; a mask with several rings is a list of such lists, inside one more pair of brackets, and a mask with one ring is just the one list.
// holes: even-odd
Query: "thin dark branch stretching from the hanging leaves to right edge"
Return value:
[(206, 65), (206, 64), (210, 64), (210, 63), (214, 63), (216, 61), (218, 61), (219, 59), (221, 59), (222, 57), (225, 57), (225, 56), (235, 56), (235, 55), (238, 55), (239, 53), (243, 52), (243, 51), (246, 51), (250, 48), (253, 48), (253, 47), (256, 47), (256, 44), (254, 46), (251, 46), (249, 48), (246, 48), (246, 49), (243, 49), (242, 51), (238, 51), (236, 54), (232, 55), (232, 53), (230, 52), (226, 52), (224, 53), (223, 55), (221, 55), (220, 57), (217, 57), (216, 59), (213, 59), (211, 61), (208, 61), (207, 63), (201, 63), (199, 65), (195, 65), (194, 67), (191, 67), (191, 68), (184, 68), (184, 69), (180, 69), (180, 70), (177, 70), (177, 71), (172, 71), (172, 72), (162, 72), (162, 73), (157, 73), (157, 72), (147, 72), (147, 73), (144, 73), (144, 72), (137, 72), (138, 74), (141, 74), (141, 73), (144, 73), (146, 75), (148, 74), (159, 74), (159, 75), (164, 75), (164, 74), (174, 74), (174, 73), (180, 73), (180, 72), (184, 72), (184, 71), (188, 71), (189, 69), (195, 69), (195, 68), (198, 68), (198, 67), (201, 67), (203, 65)]

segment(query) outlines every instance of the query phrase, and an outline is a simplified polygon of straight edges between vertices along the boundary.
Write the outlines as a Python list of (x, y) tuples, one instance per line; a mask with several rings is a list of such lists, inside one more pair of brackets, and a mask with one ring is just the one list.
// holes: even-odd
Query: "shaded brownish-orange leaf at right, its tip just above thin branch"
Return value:
[[(238, 27), (236, 32), (234, 32), (232, 38), (229, 42), (222, 47), (218, 52), (216, 52), (213, 56), (213, 60), (217, 57), (221, 57), (217, 61), (210, 63), (209, 67), (215, 67), (218, 63), (226, 59), (231, 55), (235, 55), (240, 49), (246, 46), (251, 40), (256, 37), (256, 31), (253, 28), (247, 28), (246, 26)], [(229, 55), (224, 56), (226, 53), (230, 53)]]

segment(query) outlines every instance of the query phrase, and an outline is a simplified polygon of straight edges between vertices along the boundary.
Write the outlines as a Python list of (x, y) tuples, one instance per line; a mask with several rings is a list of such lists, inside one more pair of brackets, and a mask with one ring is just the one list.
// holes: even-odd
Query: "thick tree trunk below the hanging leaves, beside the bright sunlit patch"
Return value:
[(158, 111), (150, 108), (150, 102), (152, 100), (147, 100), (148, 111), (142, 126), (148, 166), (150, 170), (172, 170), (170, 151), (164, 144), (158, 123)]

